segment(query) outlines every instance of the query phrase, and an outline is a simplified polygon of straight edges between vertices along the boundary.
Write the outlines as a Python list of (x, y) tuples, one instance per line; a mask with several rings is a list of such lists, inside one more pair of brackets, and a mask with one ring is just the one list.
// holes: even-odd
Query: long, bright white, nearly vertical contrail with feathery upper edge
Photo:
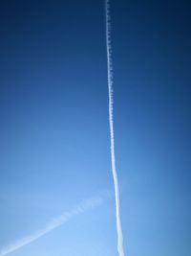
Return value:
[(117, 219), (117, 250), (119, 256), (124, 256), (122, 229), (120, 222), (120, 204), (116, 170), (115, 157), (115, 138), (114, 138), (114, 118), (113, 118), (113, 62), (112, 62), (112, 42), (111, 42), (111, 15), (109, 0), (105, 0), (105, 17), (106, 17), (106, 49), (107, 49), (107, 73), (108, 73), (108, 93), (109, 93), (109, 124), (110, 124), (110, 141), (111, 141), (111, 160), (112, 174), (114, 178), (115, 198), (116, 198), (116, 219)]

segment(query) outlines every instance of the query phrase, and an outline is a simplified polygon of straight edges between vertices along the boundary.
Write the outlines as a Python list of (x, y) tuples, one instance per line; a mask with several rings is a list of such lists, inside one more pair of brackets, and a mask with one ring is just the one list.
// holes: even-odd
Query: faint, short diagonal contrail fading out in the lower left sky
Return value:
[(7, 255), (27, 244), (31, 244), (33, 241), (39, 239), (40, 237), (44, 236), (45, 234), (52, 231), (54, 228), (64, 224), (67, 221), (70, 221), (75, 216), (82, 214), (88, 210), (91, 210), (100, 204), (103, 203), (103, 201), (106, 198), (109, 198), (111, 194), (109, 192), (105, 192), (102, 196), (97, 196), (95, 198), (89, 198), (82, 200), (80, 203), (74, 206), (73, 209), (71, 209), (68, 212), (63, 213), (62, 215), (58, 216), (57, 218), (54, 218), (52, 221), (50, 221), (43, 229), (38, 230), (35, 234), (32, 234), (31, 236), (27, 236), (21, 240), (18, 240), (14, 244), (10, 244), (7, 247), (4, 247), (0, 250), (0, 256)]

